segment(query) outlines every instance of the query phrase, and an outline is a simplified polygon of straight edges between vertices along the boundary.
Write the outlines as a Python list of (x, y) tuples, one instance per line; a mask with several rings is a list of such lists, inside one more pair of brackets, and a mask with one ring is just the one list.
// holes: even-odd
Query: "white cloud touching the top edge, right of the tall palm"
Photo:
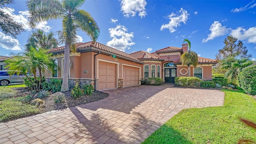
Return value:
[(147, 15), (147, 12), (145, 11), (146, 5), (146, 0), (122, 0), (121, 10), (126, 17), (136, 16), (136, 13), (138, 12), (138, 15), (142, 18)]

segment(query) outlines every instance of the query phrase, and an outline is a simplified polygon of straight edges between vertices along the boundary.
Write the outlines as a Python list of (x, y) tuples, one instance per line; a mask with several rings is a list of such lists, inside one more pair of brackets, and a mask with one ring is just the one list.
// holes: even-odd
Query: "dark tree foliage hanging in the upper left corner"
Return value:
[(1, 10), (1, 8), (6, 8), (6, 5), (13, 4), (14, 0), (0, 0), (0, 29), (6, 35), (16, 36), (24, 31), (22, 24), (15, 22), (13, 17)]

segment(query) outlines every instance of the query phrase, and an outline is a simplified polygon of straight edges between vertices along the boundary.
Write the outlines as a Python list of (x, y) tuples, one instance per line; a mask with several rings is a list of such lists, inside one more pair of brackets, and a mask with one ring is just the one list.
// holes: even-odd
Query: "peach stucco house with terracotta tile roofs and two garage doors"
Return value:
[[(142, 78), (159, 77), (167, 83), (174, 78), (188, 76), (188, 66), (182, 66), (180, 56), (188, 50), (188, 44), (182, 48), (169, 46), (148, 53), (138, 51), (127, 54), (98, 42), (77, 43), (76, 52), (70, 52), (70, 88), (79, 84), (93, 84), (97, 90), (122, 88), (140, 85)], [(62, 78), (64, 46), (48, 51), (59, 66), (55, 73), (48, 72), (47, 78)], [(198, 66), (191, 67), (191, 76), (202, 80), (212, 79), (212, 66), (217, 60), (198, 58)]]

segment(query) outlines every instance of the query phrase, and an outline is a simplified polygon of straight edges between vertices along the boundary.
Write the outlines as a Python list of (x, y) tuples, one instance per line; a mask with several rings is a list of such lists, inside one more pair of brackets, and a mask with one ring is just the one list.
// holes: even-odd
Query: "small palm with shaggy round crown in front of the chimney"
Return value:
[(196, 67), (198, 64), (198, 55), (196, 52), (193, 52), (190, 50), (191, 44), (190, 40), (184, 39), (184, 42), (188, 43), (188, 51), (181, 55), (180, 60), (182, 62), (182, 65), (188, 66), (188, 76), (190, 76), (190, 66)]

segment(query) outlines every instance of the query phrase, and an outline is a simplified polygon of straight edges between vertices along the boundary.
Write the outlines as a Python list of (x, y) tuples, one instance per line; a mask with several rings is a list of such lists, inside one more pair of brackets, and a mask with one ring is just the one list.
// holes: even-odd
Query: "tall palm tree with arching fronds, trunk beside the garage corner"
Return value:
[(84, 0), (28, 0), (27, 6), (31, 14), (30, 24), (42, 20), (62, 19), (62, 42), (65, 42), (64, 69), (61, 91), (68, 91), (68, 71), (70, 48), (74, 49), (78, 30), (86, 32), (92, 41), (96, 41), (100, 28), (90, 13), (79, 10)]

